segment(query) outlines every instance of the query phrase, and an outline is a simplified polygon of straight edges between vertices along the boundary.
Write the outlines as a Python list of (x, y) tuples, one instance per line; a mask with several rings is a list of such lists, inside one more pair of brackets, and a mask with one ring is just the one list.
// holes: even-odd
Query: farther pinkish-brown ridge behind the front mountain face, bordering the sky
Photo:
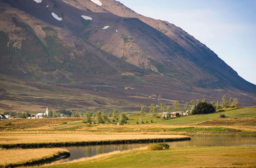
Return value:
[[(77, 2), (80, 3), (82, 1)], [(240, 90), (255, 93), (255, 85), (241, 78), (236, 71), (222, 61), (213, 51), (196, 40), (193, 36), (190, 36), (185, 31), (180, 29), (180, 27), (177, 27), (167, 21), (156, 20), (137, 14), (133, 10), (125, 7), (123, 4), (115, 0), (102, 0), (101, 3), (102, 6), (94, 4), (94, 6), (90, 6), (89, 9), (96, 12), (96, 9), (98, 10), (99, 8), (102, 8), (118, 16), (138, 18), (165, 34), (167, 37), (179, 44), (184, 50), (186, 50), (189, 55), (189, 59), (191, 62), (193, 62), (193, 64), (196, 64), (197, 67), (201, 67), (204, 72), (211, 75), (211, 78), (215, 78), (215, 80), (210, 81), (207, 78), (205, 80), (197, 79), (198, 82), (194, 83), (197, 86), (206, 88), (209, 86), (213, 88), (221, 86), (225, 88), (227, 85), (229, 85)]]

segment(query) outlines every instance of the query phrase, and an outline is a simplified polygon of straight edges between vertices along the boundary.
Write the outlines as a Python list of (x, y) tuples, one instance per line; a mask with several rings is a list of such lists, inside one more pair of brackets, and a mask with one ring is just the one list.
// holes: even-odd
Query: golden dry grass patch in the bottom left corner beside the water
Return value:
[(69, 152), (61, 148), (40, 149), (0, 149), (0, 167), (8, 164), (24, 164), (27, 162), (58, 156), (59, 153)]

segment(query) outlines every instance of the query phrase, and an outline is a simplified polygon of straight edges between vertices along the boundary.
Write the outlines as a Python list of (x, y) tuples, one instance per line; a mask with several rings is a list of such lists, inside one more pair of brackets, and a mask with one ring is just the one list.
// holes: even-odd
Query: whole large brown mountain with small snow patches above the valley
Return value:
[[(217, 100), (223, 94), (243, 105), (256, 102), (256, 86), (204, 44), (174, 24), (114, 0), (0, 0), (0, 25), (0, 110), (16, 110), (11, 101), (29, 100), (37, 107), (53, 101), (49, 94), (24, 89), (25, 83), (40, 93), (49, 92), (46, 86), (68, 89), (79, 99), (76, 106), (55, 97), (55, 109), (135, 110), (157, 103), (157, 95), (166, 103)], [(81, 103), (77, 93), (104, 101)]]

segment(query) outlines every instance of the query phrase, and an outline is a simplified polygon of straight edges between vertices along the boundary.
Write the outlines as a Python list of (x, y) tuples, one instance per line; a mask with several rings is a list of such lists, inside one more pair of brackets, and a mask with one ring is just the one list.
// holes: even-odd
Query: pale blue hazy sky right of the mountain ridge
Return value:
[(117, 0), (181, 27), (256, 84), (256, 0)]

